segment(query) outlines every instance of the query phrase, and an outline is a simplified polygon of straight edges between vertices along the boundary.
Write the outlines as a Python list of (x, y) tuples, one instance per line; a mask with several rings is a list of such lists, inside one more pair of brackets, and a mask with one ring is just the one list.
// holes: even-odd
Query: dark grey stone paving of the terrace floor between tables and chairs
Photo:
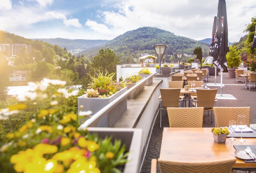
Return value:
[[(247, 68), (239, 67), (248, 71)], [(210, 76), (207, 83), (214, 83), (215, 76)], [(220, 83), (220, 73), (217, 76), (217, 83)], [(232, 94), (237, 100), (219, 99), (216, 102), (216, 107), (251, 107), (251, 124), (256, 124), (256, 88), (255, 85), (251, 90), (244, 88), (243, 82), (237, 82), (235, 78), (229, 78), (227, 72), (223, 72), (223, 87), (222, 94)], [(220, 94), (220, 86), (209, 86), (209, 88), (218, 88), (217, 94)], [(151, 159), (159, 158), (162, 132), (164, 127), (169, 127), (168, 116), (165, 115), (165, 111), (162, 112), (162, 127), (160, 128), (160, 112), (157, 115), (151, 138), (149, 141), (146, 157), (143, 162), (141, 173), (150, 173)], [(204, 113), (203, 127), (214, 127), (214, 121), (211, 122), (211, 115), (208, 116), (207, 112)], [(235, 171), (235, 172), (246, 172), (246, 171)], [(247, 171), (248, 172), (248, 171)], [(160, 169), (157, 165), (157, 173), (160, 173)]]

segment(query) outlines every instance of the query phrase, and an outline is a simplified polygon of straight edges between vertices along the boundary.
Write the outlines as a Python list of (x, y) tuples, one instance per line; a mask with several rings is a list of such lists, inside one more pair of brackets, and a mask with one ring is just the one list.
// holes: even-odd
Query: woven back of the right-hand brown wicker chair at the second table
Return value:
[(218, 89), (197, 89), (197, 107), (213, 108), (217, 91)]

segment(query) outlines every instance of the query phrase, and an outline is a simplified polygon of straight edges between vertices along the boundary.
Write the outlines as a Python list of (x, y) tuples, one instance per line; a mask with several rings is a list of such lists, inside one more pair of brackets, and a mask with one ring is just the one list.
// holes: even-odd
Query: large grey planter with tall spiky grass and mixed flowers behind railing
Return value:
[[(114, 74), (99, 73), (92, 77), (86, 94), (78, 97), (78, 111), (92, 111), (92, 115), (127, 91), (125, 82), (113, 81)], [(127, 110), (127, 99), (123, 99), (100, 119), (97, 127), (112, 127)]]

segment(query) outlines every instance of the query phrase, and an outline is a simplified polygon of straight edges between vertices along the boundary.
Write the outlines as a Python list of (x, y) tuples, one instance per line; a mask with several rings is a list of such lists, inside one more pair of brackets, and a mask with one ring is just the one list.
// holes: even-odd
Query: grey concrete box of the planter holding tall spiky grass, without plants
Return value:
[[(122, 95), (127, 91), (127, 87), (121, 89), (117, 93), (111, 95), (108, 98), (85, 98), (84, 95), (78, 97), (78, 112), (80, 111), (80, 106), (83, 105), (83, 111), (92, 111), (96, 114), (100, 109), (108, 105), (110, 102), (114, 101), (117, 97)], [(127, 110), (127, 99), (124, 98), (115, 107), (112, 108), (97, 124), (97, 127), (112, 127), (115, 122), (124, 114)]]

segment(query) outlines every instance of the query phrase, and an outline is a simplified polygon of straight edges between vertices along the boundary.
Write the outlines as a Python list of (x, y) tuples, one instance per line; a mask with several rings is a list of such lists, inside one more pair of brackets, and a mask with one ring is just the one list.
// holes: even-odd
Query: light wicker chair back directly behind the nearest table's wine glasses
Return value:
[(250, 126), (251, 107), (213, 107), (213, 112), (215, 127), (229, 126), (229, 121), (237, 121), (238, 115), (246, 115), (247, 126)]

